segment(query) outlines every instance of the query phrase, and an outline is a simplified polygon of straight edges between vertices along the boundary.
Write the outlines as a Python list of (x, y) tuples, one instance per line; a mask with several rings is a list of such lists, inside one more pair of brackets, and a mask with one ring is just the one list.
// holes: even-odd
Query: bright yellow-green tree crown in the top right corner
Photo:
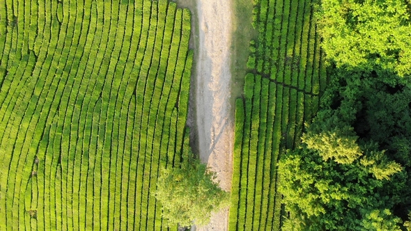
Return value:
[(403, 0), (323, 0), (323, 49), (337, 66), (411, 74), (411, 18)]

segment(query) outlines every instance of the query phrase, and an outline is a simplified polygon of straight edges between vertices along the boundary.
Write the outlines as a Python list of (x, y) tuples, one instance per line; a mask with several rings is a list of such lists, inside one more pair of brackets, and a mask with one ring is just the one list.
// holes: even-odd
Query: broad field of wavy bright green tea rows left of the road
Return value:
[(189, 33), (165, 0), (0, 0), (0, 230), (167, 229)]

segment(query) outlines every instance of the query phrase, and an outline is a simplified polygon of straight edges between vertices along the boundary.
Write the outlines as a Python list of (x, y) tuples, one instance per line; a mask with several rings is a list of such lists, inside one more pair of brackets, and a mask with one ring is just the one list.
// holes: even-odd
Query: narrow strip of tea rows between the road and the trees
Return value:
[(309, 0), (260, 0), (244, 98), (237, 99), (229, 230), (279, 230), (279, 154), (300, 143), (326, 75)]

